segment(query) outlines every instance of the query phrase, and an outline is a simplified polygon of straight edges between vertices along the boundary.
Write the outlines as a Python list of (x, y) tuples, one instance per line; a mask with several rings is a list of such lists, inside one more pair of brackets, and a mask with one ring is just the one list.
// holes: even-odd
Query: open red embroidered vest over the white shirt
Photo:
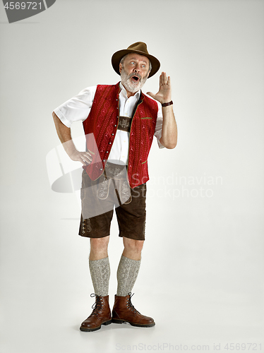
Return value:
[[(119, 124), (119, 83), (97, 85), (88, 119), (83, 121), (87, 149), (92, 163), (83, 168), (92, 180), (104, 172), (104, 166)], [(148, 181), (148, 154), (155, 133), (157, 102), (143, 95), (136, 105), (131, 122), (128, 151), (128, 182), (131, 188)]]

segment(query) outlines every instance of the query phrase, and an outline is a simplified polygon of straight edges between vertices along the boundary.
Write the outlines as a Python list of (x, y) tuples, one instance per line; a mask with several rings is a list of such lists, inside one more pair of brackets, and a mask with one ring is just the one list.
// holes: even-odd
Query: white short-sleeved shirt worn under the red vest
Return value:
[[(140, 97), (140, 91), (128, 98), (124, 86), (121, 83), (119, 83), (119, 85), (121, 88), (119, 93), (119, 115), (131, 117), (133, 114), (133, 109), (136, 106), (136, 102), (138, 102)], [(70, 100), (67, 100), (54, 110), (54, 113), (64, 125), (70, 128), (74, 121), (85, 121), (85, 119), (88, 118), (92, 107), (92, 102), (95, 97), (96, 88), (97, 86), (92, 86), (81, 90), (78, 95), (72, 97)], [(162, 105), (160, 102), (157, 102), (157, 104), (157, 123), (155, 126), (154, 136), (157, 138), (159, 147), (164, 148), (164, 146), (160, 143), (160, 138), (162, 137)], [(129, 133), (117, 129), (114, 143), (112, 145), (111, 152), (109, 153), (109, 160), (114, 160), (115, 163), (119, 161), (121, 164), (127, 164), (128, 145)]]

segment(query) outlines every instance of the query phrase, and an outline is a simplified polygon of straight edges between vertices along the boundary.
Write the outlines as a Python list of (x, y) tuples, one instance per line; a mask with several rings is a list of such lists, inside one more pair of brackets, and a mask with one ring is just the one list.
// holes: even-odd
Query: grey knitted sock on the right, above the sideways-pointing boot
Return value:
[(116, 295), (126, 297), (132, 291), (138, 277), (140, 260), (132, 260), (121, 256), (119, 268), (117, 269), (117, 292)]

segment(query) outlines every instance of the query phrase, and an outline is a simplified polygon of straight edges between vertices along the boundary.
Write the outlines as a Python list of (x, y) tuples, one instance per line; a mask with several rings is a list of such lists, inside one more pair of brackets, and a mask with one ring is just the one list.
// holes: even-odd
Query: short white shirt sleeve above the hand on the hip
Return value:
[(84, 121), (87, 119), (95, 97), (96, 88), (97, 86), (85, 88), (78, 95), (72, 97), (70, 100), (66, 100), (66, 102), (54, 109), (54, 113), (65, 126), (70, 128), (74, 121)]

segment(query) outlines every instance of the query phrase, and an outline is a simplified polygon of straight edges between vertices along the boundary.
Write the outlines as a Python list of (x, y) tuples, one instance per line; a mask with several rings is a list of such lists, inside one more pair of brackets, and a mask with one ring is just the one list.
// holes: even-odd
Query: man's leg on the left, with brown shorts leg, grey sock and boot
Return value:
[[(111, 310), (109, 308), (109, 277), (110, 266), (107, 253), (109, 243), (110, 225), (114, 213), (112, 198), (106, 200), (99, 198), (101, 184), (104, 183), (104, 176), (92, 181), (88, 174), (83, 171), (83, 182), (81, 189), (82, 215), (80, 219), (79, 234), (82, 237), (90, 238), (89, 267), (92, 277), (92, 285), (95, 294), (95, 304), (92, 306), (91, 315), (80, 325), (82, 331), (95, 331), (101, 325), (111, 323)], [(109, 196), (113, 193), (113, 186), (110, 187)]]

